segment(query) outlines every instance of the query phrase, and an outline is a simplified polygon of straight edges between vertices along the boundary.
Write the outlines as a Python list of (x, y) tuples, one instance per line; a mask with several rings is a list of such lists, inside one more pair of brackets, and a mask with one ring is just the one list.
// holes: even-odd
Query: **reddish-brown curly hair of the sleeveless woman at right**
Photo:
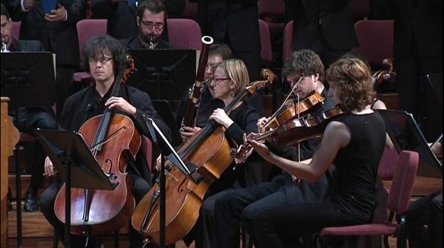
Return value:
[(327, 81), (337, 86), (342, 111), (362, 111), (374, 101), (372, 74), (364, 61), (356, 57), (337, 60), (326, 74)]

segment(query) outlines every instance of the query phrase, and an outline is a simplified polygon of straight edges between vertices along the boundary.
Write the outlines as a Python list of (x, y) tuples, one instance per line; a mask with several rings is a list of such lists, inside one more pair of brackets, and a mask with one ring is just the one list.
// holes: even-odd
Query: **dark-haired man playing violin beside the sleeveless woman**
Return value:
[[(325, 98), (324, 105), (313, 111), (312, 115), (335, 106), (323, 85), (323, 62), (315, 52), (311, 50), (293, 52), (283, 65), (282, 74), (291, 84), (291, 88), (296, 88), (293, 94), (295, 98), (299, 96), (300, 101), (313, 91)], [(268, 119), (261, 118), (258, 122), (259, 128)], [(297, 153), (300, 159), (304, 160), (312, 157), (318, 144), (318, 139), (302, 142)], [(279, 152), (286, 153), (286, 157), (292, 157), (294, 156), (294, 150), (295, 148), (291, 147), (291, 150)], [(276, 176), (270, 182), (264, 182), (249, 188), (225, 191), (212, 196), (210, 199), (215, 201), (215, 209), (205, 208), (207, 207), (205, 204), (202, 206), (204, 209), (201, 212), (204, 214), (212, 213), (212, 211), (215, 213), (202, 215), (202, 222), (211, 226), (211, 230), (203, 234), (207, 236), (202, 237), (204, 242), (200, 247), (239, 247), (239, 222), (241, 218), (242, 220), (253, 221), (259, 215), (262, 215), (264, 210), (274, 206), (322, 201), (327, 193), (327, 188), (328, 182), (325, 176), (315, 184), (308, 181), (300, 181), (299, 184), (296, 184), (291, 174), (284, 173)]]

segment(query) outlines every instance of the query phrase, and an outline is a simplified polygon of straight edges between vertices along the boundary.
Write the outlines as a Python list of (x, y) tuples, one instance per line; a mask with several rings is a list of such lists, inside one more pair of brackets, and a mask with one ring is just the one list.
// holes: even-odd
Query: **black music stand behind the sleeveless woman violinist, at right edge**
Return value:
[(411, 113), (406, 111), (378, 110), (396, 151), (411, 150), (419, 153), (418, 175), (440, 177), (443, 164), (428, 146), (426, 138)]

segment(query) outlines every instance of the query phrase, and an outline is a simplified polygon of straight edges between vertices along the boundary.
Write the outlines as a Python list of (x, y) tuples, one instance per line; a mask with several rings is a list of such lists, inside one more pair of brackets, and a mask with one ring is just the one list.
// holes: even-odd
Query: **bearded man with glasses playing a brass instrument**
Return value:
[(137, 6), (136, 23), (139, 35), (121, 40), (126, 49), (167, 49), (171, 48), (161, 35), (166, 26), (166, 6), (159, 0), (141, 1)]

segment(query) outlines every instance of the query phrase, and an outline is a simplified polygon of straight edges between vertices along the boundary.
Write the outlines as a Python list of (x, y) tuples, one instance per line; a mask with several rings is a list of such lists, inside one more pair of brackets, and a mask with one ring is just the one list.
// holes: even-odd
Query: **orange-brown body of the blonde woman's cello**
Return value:
[[(190, 140), (179, 152), (192, 143), (193, 140)], [(202, 181), (195, 184), (176, 167), (166, 174), (166, 244), (173, 244), (182, 239), (195, 225), (207, 189), (232, 164), (233, 157), (227, 152), (229, 149), (230, 145), (224, 136), (224, 131), (222, 128), (217, 128), (210, 137), (185, 157), (198, 167), (197, 172), (202, 175)], [(133, 227), (155, 244), (160, 243), (159, 201), (150, 206), (158, 189), (158, 184), (151, 188), (151, 191), (139, 202), (131, 218)], [(151, 213), (148, 213), (150, 210)], [(146, 227), (143, 227), (147, 215), (150, 218)]]

